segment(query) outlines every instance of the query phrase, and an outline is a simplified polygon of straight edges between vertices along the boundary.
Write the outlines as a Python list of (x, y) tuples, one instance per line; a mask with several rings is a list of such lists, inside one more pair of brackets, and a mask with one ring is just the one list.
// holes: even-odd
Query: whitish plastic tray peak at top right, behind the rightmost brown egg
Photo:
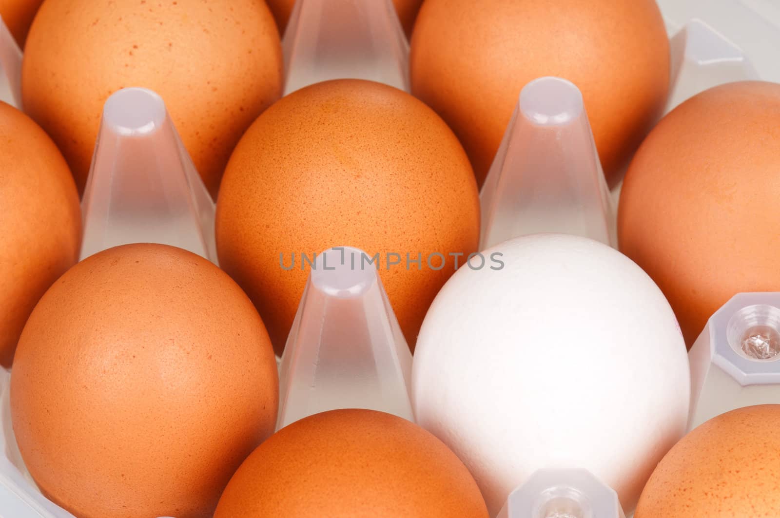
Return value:
[(672, 91), (666, 112), (709, 88), (758, 79), (743, 51), (701, 20), (687, 23), (671, 45)]

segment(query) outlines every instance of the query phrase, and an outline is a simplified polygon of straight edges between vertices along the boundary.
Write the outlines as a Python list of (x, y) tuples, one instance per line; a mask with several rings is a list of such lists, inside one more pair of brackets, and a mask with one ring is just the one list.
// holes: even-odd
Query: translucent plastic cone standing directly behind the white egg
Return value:
[(573, 83), (541, 77), (523, 87), (480, 202), (480, 250), (539, 232), (615, 245), (615, 209)]

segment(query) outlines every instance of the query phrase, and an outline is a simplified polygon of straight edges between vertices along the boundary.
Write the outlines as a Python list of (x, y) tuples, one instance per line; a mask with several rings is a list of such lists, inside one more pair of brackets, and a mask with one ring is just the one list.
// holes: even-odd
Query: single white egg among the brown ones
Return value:
[(457, 271), (425, 318), (419, 424), (466, 463), (494, 516), (541, 468), (586, 468), (630, 512), (685, 433), (690, 374), (671, 307), (590, 239), (523, 236), (483, 254), (485, 268)]

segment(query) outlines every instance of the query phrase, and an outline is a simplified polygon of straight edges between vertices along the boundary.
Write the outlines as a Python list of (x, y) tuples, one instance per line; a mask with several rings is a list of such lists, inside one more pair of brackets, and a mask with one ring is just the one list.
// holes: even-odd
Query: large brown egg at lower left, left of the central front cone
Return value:
[(105, 250), (62, 275), (11, 376), (24, 463), (79, 518), (211, 517), (277, 406), (250, 300), (214, 264), (164, 245)]

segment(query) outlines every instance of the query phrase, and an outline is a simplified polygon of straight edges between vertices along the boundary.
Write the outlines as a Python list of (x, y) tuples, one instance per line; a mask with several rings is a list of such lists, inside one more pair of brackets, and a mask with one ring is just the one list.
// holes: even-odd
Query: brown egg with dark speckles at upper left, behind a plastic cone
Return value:
[(30, 29), (24, 108), (83, 190), (103, 104), (122, 87), (165, 100), (208, 190), (241, 134), (282, 94), (282, 46), (264, 2), (48, 0)]

